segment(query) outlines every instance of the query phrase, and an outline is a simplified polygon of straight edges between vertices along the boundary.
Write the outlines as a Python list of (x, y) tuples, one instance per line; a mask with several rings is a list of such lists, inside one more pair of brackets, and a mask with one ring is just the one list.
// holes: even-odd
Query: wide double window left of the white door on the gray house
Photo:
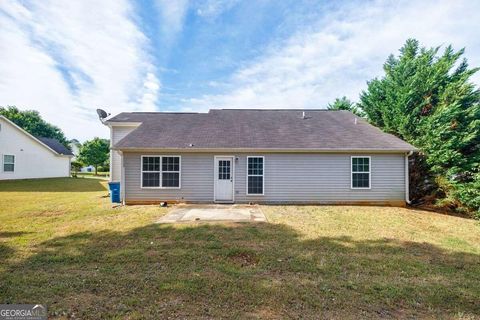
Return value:
[(143, 188), (180, 188), (180, 157), (142, 156)]

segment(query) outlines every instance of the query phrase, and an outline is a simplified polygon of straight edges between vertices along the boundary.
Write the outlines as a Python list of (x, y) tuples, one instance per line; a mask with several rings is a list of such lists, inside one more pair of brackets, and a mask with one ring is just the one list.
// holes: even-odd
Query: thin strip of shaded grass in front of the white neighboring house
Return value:
[(106, 191), (101, 179), (47, 178), (0, 181), (0, 192), (95, 192)]

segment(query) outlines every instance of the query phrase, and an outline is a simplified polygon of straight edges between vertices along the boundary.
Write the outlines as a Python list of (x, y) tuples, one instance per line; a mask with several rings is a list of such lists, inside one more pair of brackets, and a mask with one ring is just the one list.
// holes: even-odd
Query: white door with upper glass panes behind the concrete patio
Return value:
[(233, 157), (215, 157), (215, 201), (233, 201)]

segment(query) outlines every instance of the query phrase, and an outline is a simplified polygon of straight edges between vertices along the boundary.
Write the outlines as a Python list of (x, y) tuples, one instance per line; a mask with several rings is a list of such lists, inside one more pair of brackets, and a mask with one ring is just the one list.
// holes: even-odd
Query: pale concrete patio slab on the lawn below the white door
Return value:
[(192, 221), (267, 222), (262, 210), (249, 205), (178, 205), (157, 223)]

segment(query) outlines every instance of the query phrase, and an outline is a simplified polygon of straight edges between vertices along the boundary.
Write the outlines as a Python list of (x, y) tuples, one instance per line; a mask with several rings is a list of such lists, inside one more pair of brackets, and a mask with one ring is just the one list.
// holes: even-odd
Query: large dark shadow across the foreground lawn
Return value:
[(478, 315), (480, 256), (426, 243), (304, 239), (281, 224), (83, 232), (0, 274), (3, 303), (80, 318)]

